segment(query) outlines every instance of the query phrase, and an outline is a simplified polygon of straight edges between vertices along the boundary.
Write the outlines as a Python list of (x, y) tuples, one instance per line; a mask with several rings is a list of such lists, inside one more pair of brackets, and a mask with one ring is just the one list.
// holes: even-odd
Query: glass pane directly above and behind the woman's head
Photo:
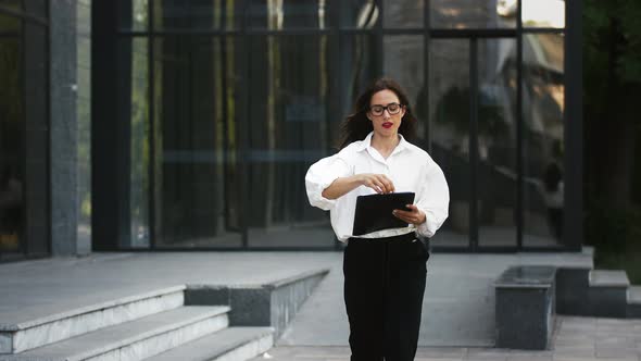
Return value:
[[(387, 9), (387, 8), (386, 8)], [(424, 89), (424, 37), (422, 35), (397, 35), (382, 38), (385, 51), (382, 69), (386, 76), (392, 77), (407, 94), (410, 98), (410, 111), (416, 113), (420, 98), (425, 98)], [(427, 122), (427, 117), (424, 119)], [(417, 139), (414, 144), (427, 149), (425, 140), (425, 123), (418, 122), (416, 127)]]

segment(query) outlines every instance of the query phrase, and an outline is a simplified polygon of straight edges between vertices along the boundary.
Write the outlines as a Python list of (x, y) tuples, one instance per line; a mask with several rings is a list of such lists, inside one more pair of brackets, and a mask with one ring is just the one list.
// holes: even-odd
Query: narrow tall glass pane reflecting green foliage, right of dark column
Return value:
[(147, 38), (124, 39), (118, 74), (118, 114), (130, 120), (129, 212), (130, 239), (124, 248), (149, 247), (149, 71)]

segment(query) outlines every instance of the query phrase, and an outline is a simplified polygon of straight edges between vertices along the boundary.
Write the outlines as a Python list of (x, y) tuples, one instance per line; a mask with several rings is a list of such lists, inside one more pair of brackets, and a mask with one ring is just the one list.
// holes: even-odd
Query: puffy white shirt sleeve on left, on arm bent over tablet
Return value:
[(323, 190), (334, 180), (350, 175), (350, 166), (338, 154), (323, 158), (310, 166), (305, 175), (305, 188), (310, 204), (329, 211), (336, 203), (335, 199), (323, 197)]

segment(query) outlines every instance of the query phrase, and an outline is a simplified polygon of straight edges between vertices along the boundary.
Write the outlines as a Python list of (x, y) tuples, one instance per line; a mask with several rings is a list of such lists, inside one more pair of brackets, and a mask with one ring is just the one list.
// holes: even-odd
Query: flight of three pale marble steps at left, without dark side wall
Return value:
[(247, 360), (272, 347), (272, 327), (229, 327), (228, 306), (186, 306), (184, 291), (161, 289), (4, 325), (0, 360), (156, 360), (193, 343), (199, 360), (230, 353), (237, 357), (229, 360)]

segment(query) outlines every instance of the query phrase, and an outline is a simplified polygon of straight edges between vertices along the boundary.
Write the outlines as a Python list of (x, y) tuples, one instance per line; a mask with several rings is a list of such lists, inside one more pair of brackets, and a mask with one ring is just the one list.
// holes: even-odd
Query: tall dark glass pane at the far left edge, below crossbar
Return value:
[(0, 260), (20, 252), (24, 238), (22, 51), (17, 38), (0, 38)]

